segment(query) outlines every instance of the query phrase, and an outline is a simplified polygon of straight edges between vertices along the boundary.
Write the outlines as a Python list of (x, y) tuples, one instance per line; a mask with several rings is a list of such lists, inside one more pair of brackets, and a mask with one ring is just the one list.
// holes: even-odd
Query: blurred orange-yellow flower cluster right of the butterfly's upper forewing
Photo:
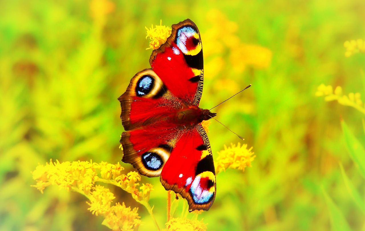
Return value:
[[(212, 27), (201, 35), (204, 41), (209, 41), (204, 43), (204, 55), (215, 58), (208, 59), (205, 76), (219, 75), (224, 67), (231, 67), (235, 72), (241, 73), (247, 65), (257, 68), (270, 65), (272, 52), (260, 45), (242, 43), (238, 35), (241, 28), (236, 22), (228, 20), (220, 10), (208, 11), (207, 21)], [(224, 58), (224, 55), (228, 56)]]

